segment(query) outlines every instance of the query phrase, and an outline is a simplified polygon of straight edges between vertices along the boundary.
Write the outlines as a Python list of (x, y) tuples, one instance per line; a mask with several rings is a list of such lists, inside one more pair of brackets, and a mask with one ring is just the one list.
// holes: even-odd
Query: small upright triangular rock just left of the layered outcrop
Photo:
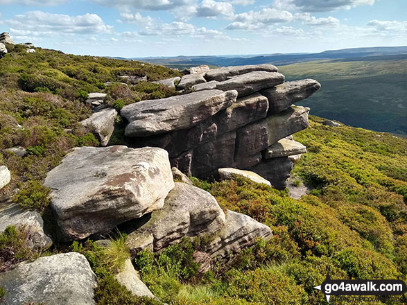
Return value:
[(107, 146), (114, 131), (116, 116), (116, 110), (107, 108), (92, 114), (92, 116), (80, 123), (96, 134), (97, 139), (101, 142), (101, 146)]

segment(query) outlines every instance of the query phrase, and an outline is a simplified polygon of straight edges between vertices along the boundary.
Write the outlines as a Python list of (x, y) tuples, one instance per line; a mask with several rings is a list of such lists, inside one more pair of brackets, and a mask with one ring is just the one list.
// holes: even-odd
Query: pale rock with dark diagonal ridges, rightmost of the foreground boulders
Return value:
[(224, 259), (254, 245), (256, 238), (271, 238), (270, 227), (247, 215), (227, 210), (225, 227), (208, 246), (212, 259)]

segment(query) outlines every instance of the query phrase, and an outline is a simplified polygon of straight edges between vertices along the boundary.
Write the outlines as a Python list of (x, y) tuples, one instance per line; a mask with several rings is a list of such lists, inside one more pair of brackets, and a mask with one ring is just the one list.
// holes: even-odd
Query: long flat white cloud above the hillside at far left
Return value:
[(32, 11), (7, 20), (10, 33), (17, 36), (112, 33), (113, 27), (96, 14), (69, 16)]

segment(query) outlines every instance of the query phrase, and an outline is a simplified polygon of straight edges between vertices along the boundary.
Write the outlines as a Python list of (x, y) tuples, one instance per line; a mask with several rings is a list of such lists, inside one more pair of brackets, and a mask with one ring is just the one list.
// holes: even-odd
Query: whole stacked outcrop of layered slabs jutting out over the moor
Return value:
[[(162, 83), (166, 80), (162, 81)], [(170, 85), (173, 79), (168, 80)], [(183, 76), (177, 89), (196, 92), (123, 107), (131, 146), (168, 151), (171, 165), (200, 178), (218, 168), (248, 169), (284, 189), (305, 148), (285, 137), (307, 128), (309, 108), (293, 103), (320, 88), (316, 80), (284, 82), (272, 64), (226, 67)], [(272, 152), (272, 153), (270, 153)]]

